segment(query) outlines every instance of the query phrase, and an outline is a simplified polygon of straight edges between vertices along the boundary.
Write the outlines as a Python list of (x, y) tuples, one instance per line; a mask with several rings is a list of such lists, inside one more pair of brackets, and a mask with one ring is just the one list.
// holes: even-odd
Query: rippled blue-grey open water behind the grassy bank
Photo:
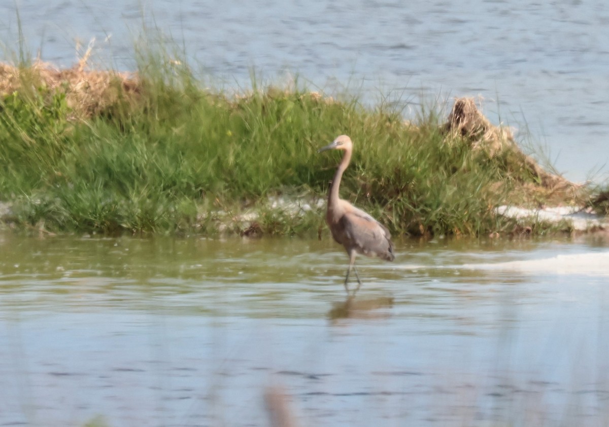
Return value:
[[(255, 67), (273, 81), (297, 73), (329, 92), (348, 86), (367, 102), (401, 97), (415, 112), (421, 102), (481, 95), (493, 123), (517, 128), (567, 178), (599, 170), (593, 178), (609, 178), (609, 7), (601, 0), (16, 5), (32, 54), (62, 66), (76, 61), (77, 40), (82, 56), (95, 37), (91, 63), (134, 69), (133, 40), (157, 27), (227, 88), (250, 86)], [(15, 2), (2, 2), (9, 52), (18, 50), (18, 27)]]

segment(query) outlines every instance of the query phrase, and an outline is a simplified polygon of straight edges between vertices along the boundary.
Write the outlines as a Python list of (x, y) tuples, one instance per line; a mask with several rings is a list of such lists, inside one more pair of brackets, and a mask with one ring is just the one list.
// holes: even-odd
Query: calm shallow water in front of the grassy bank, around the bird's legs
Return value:
[(609, 241), (0, 235), (0, 425), (605, 425)]

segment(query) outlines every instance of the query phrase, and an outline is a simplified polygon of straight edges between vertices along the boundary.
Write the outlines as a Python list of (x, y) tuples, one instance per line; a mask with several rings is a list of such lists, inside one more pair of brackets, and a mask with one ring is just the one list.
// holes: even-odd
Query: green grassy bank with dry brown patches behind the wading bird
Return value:
[(338, 134), (355, 147), (342, 197), (397, 233), (518, 232), (498, 206), (589, 195), (543, 172), (471, 100), (456, 102), (448, 123), (442, 106), (405, 121), (404, 105), (366, 108), (298, 83), (229, 95), (184, 61), (143, 56), (133, 74), (91, 71), (86, 58), (65, 70), (0, 64), (5, 222), (41, 232), (325, 232), (339, 159), (316, 151)]

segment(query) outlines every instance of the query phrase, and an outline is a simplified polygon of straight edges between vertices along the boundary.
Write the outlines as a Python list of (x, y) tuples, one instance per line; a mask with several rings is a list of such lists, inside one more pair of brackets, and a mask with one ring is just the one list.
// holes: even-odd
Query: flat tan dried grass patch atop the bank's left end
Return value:
[(104, 113), (120, 100), (135, 100), (141, 82), (133, 73), (87, 69), (86, 57), (69, 69), (40, 60), (27, 68), (0, 63), (0, 97), (40, 89), (65, 94), (72, 119), (85, 119)]

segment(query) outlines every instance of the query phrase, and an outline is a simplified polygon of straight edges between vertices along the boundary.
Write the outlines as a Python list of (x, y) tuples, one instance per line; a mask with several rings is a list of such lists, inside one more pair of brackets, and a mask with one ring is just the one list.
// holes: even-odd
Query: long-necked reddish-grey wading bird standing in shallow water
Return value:
[(381, 223), (366, 214), (363, 210), (357, 209), (351, 203), (339, 198), (340, 178), (347, 169), (353, 152), (353, 142), (347, 135), (337, 137), (332, 144), (320, 148), (317, 152), (325, 150), (343, 150), (342, 161), (334, 174), (334, 180), (330, 187), (328, 196), (328, 212), (326, 212), (326, 222), (332, 232), (332, 237), (341, 245), (345, 246), (349, 255), (349, 267), (345, 277), (345, 289), (349, 292), (349, 274), (351, 269), (355, 270), (357, 277), (356, 293), (362, 285), (355, 268), (355, 257), (357, 254), (364, 254), (368, 257), (379, 257), (387, 261), (393, 261), (393, 244), (389, 230)]

